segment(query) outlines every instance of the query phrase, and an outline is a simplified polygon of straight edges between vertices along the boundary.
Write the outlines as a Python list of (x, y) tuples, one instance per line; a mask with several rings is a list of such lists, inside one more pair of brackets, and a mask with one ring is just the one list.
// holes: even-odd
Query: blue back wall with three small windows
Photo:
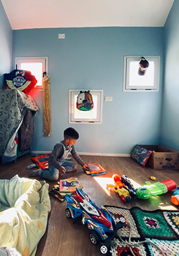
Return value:
[[(65, 39), (58, 39), (65, 33)], [(160, 91), (122, 92), (125, 55), (161, 56)], [(78, 152), (129, 154), (137, 143), (158, 144), (162, 111), (163, 28), (65, 28), (13, 31), (15, 57), (49, 57), (52, 136), (43, 136), (42, 93), (33, 97), (41, 112), (35, 117), (33, 151), (51, 151), (73, 126), (80, 134)], [(69, 89), (103, 89), (103, 123), (69, 124)]]

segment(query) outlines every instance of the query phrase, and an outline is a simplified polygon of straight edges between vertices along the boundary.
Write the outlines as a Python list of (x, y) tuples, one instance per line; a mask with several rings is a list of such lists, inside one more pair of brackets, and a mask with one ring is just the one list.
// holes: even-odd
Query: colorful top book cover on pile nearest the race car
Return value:
[(83, 188), (77, 178), (65, 179), (59, 181), (59, 191), (60, 193), (69, 193), (76, 191), (76, 188)]

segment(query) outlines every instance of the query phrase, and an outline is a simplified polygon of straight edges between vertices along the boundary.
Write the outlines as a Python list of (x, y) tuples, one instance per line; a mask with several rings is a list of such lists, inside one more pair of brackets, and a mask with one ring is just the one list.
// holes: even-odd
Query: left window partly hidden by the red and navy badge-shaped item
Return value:
[(15, 66), (17, 69), (27, 70), (37, 79), (35, 89), (43, 90), (43, 72), (48, 72), (48, 57), (16, 57)]

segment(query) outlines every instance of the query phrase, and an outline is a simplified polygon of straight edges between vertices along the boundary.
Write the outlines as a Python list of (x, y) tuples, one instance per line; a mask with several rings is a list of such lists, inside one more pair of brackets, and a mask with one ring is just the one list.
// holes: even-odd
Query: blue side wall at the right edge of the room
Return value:
[(165, 79), (161, 144), (179, 150), (179, 1), (174, 1), (164, 27)]

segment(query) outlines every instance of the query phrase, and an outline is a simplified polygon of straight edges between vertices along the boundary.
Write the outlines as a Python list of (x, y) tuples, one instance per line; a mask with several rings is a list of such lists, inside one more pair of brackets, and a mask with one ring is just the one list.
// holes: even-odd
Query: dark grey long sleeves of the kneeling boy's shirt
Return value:
[[(64, 145), (66, 148), (68, 148), (67, 145)], [(63, 155), (63, 146), (59, 143), (55, 144), (54, 149), (52, 151), (52, 153), (49, 156), (49, 164), (51, 164), (52, 166), (54, 166), (55, 168), (58, 169), (58, 167), (61, 165), (59, 163), (60, 158)], [(81, 166), (83, 166), (85, 163), (83, 162), (83, 160), (80, 158), (80, 156), (78, 155), (78, 153), (75, 150), (75, 146), (72, 145), (72, 150), (70, 152), (70, 154), (72, 154), (73, 158), (77, 161), (77, 163), (79, 163)]]

